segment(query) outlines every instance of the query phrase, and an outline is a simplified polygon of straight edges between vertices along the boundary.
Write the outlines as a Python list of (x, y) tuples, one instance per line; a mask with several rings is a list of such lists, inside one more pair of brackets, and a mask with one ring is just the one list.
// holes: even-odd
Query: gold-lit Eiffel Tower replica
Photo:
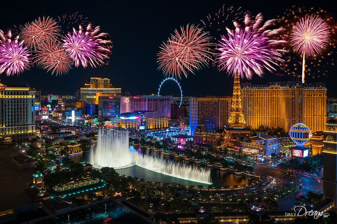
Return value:
[(231, 114), (229, 115), (227, 125), (222, 133), (223, 141), (221, 147), (225, 148), (229, 142), (237, 136), (248, 136), (251, 133), (250, 127), (246, 125), (245, 118), (242, 113), (241, 93), (240, 93), (240, 76), (234, 76), (233, 98)]

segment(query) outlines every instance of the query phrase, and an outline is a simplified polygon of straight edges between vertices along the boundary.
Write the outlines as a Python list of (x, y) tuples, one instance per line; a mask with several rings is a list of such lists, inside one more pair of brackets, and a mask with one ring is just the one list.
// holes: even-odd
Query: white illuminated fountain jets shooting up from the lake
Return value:
[(127, 131), (117, 132), (114, 129), (100, 128), (97, 143), (90, 152), (90, 163), (95, 168), (113, 167), (114, 169), (136, 165), (160, 174), (212, 184), (211, 171), (207, 167), (185, 165), (138, 152), (133, 146), (129, 146)]

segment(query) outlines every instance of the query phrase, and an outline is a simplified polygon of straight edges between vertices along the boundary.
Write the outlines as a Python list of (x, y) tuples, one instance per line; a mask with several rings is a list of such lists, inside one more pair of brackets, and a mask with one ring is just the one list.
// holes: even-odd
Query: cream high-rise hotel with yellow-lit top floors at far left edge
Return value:
[(0, 137), (15, 141), (36, 138), (35, 94), (28, 85), (0, 83)]

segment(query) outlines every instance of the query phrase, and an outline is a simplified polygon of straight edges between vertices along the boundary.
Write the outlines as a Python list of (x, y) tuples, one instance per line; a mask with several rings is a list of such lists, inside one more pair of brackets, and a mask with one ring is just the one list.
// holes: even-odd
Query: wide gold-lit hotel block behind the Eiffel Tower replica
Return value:
[(327, 111), (325, 83), (243, 83), (241, 99), (245, 121), (251, 129), (263, 125), (281, 127), (287, 131), (301, 122), (312, 132), (324, 130)]

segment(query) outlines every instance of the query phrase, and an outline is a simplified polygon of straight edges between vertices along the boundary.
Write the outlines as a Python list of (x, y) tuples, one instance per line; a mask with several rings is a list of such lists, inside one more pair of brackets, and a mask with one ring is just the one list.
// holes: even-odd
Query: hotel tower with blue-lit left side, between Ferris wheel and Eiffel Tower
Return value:
[(190, 135), (198, 125), (204, 125), (207, 132), (223, 129), (230, 115), (231, 103), (232, 97), (190, 97)]

